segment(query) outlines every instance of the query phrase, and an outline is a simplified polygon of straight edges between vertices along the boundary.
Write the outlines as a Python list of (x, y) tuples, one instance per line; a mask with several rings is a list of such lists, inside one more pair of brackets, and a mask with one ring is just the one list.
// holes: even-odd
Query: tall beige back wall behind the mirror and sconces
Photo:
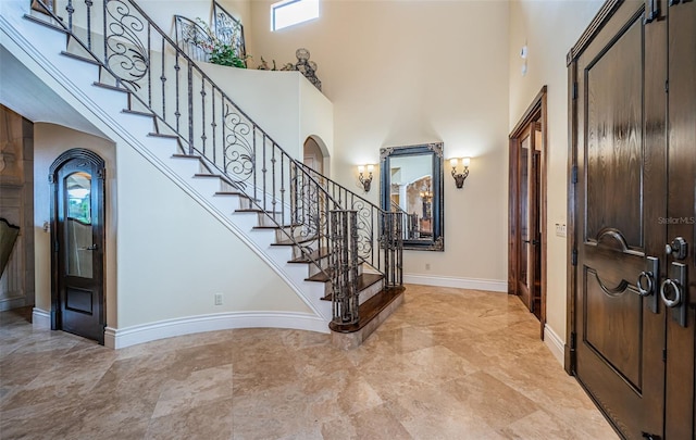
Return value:
[(333, 178), (362, 193), (356, 166), (382, 147), (473, 158), (463, 189), (445, 176), (445, 252), (407, 251), (405, 272), (506, 280), (508, 2), (322, 1), (321, 18), (278, 33), (271, 3), (251, 2), (249, 52), (282, 65), (310, 51), (334, 103)]

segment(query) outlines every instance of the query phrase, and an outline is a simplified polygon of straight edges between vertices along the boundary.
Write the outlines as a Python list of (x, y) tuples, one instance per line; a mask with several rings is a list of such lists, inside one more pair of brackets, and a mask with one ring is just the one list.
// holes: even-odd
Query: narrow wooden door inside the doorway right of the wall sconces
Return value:
[(542, 290), (540, 126), (531, 123), (520, 137), (518, 294), (538, 316)]

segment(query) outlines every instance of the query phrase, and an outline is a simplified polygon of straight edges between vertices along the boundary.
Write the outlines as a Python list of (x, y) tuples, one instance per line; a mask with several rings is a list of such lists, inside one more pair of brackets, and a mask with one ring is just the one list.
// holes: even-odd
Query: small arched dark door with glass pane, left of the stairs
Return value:
[(52, 325), (103, 343), (103, 162), (71, 150), (54, 163)]

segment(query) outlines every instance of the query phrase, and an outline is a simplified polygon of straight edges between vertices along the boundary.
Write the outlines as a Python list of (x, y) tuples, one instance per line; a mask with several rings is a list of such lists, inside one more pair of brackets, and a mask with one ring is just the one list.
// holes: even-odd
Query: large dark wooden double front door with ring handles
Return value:
[(696, 3), (646, 3), (607, 2), (571, 63), (572, 369), (625, 438), (692, 439)]

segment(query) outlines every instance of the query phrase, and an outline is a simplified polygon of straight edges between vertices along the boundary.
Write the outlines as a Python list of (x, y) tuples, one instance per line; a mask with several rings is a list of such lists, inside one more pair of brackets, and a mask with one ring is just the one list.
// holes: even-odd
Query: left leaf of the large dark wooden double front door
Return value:
[(623, 436), (659, 439), (667, 34), (663, 21), (645, 24), (642, 2), (617, 8), (575, 70), (574, 374)]

